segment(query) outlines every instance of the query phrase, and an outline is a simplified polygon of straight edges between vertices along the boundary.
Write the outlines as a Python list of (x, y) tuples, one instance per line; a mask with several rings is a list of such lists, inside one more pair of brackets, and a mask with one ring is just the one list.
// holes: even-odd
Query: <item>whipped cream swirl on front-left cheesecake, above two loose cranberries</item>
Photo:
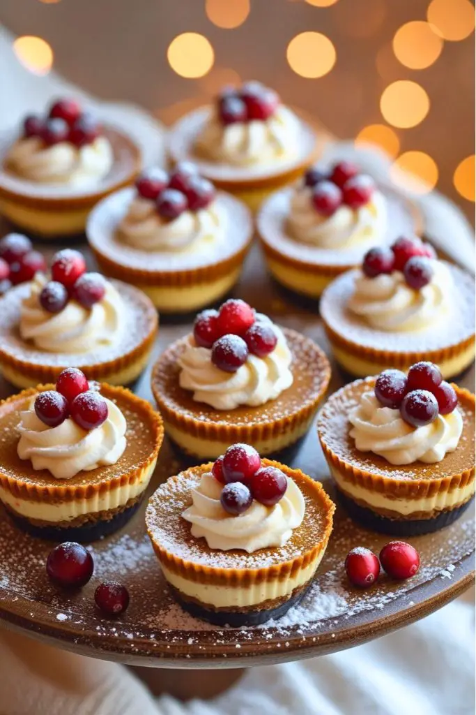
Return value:
[(108, 417), (93, 430), (83, 430), (66, 418), (61, 425), (49, 427), (36, 416), (35, 398), (28, 410), (20, 413), (20, 459), (29, 459), (34, 469), (47, 469), (55, 479), (71, 479), (81, 471), (115, 464), (126, 449), (126, 420), (111, 400)]

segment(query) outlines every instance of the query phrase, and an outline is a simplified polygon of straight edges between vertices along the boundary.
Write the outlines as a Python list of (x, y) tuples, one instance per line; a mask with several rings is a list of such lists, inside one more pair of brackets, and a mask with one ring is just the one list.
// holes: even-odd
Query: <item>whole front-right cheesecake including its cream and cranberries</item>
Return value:
[(475, 396), (433, 363), (345, 385), (321, 410), (318, 434), (340, 501), (375, 531), (437, 531), (472, 501)]

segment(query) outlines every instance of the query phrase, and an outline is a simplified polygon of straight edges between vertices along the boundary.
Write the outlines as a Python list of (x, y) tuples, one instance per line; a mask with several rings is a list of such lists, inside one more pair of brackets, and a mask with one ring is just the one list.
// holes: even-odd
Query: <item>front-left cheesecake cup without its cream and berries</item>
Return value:
[(126, 418), (126, 449), (113, 465), (56, 479), (17, 453), (19, 413), (54, 385), (38, 385), (0, 403), (0, 501), (14, 523), (54, 541), (93, 541), (121, 528), (136, 512), (156, 466), (163, 424), (146, 400), (101, 384), (103, 397)]

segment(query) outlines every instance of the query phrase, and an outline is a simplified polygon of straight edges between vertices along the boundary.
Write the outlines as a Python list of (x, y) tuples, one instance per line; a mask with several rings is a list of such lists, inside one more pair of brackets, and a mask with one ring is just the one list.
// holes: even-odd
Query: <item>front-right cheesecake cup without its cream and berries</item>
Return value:
[(350, 516), (375, 531), (416, 536), (437, 531), (460, 516), (475, 493), (475, 395), (453, 385), (463, 432), (455, 452), (435, 464), (392, 465), (355, 448), (349, 413), (376, 378), (355, 380), (330, 396), (318, 434), (340, 500)]

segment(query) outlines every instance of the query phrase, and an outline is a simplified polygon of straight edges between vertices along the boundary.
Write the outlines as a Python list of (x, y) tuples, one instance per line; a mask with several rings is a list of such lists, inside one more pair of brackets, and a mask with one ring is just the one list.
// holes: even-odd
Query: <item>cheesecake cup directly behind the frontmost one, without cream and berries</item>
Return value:
[(310, 428), (330, 380), (325, 354), (310, 338), (283, 329), (293, 355), (293, 385), (258, 407), (215, 410), (193, 400), (191, 390), (178, 383), (178, 358), (188, 337), (168, 347), (153, 367), (152, 391), (166, 433), (181, 450), (194, 458), (217, 458), (229, 445), (243, 442), (260, 454), (279, 452), (297, 442)]

